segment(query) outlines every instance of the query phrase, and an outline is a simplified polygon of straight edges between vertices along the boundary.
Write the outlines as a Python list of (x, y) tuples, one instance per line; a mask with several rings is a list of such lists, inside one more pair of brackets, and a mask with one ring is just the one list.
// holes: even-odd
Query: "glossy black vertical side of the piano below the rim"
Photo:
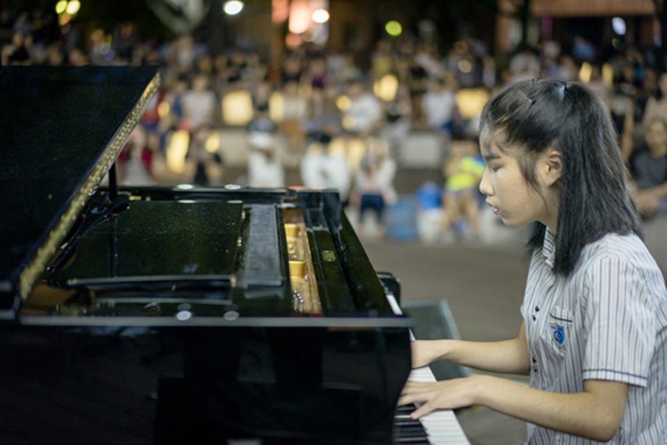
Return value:
[(1, 444), (391, 444), (406, 330), (0, 325)]

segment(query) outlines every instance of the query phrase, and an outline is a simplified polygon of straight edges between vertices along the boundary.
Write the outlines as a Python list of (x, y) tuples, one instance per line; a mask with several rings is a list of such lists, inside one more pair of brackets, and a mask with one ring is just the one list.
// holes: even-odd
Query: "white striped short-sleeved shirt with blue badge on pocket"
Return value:
[[(667, 444), (667, 289), (637, 236), (586, 245), (570, 277), (556, 275), (554, 234), (533, 252), (521, 305), (530, 386), (577, 393), (584, 380), (629, 385), (609, 444)], [(598, 444), (528, 423), (527, 444)]]

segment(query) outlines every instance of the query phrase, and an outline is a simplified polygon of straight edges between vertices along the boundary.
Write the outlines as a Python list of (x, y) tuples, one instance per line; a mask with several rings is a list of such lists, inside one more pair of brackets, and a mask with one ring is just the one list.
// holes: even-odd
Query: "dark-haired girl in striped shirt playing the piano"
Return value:
[(486, 104), (480, 128), (486, 204), (506, 225), (534, 223), (523, 323), (507, 341), (415, 341), (413, 366), (446, 359), (530, 386), (409, 382), (400, 404), (425, 402), (415, 418), (485, 405), (527, 421), (529, 444), (666, 443), (667, 290), (607, 108), (579, 83), (523, 81)]

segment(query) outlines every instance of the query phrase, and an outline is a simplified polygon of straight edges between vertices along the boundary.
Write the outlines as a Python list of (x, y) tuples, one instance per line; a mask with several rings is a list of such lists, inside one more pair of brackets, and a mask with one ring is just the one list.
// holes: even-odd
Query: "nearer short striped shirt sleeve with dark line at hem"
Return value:
[(656, 339), (641, 274), (628, 261), (595, 261), (584, 284), (584, 380), (645, 387)]

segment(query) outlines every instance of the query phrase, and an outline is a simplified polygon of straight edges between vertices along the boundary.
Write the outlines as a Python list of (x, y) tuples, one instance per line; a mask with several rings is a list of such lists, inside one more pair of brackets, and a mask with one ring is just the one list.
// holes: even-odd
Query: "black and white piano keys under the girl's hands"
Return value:
[[(402, 310), (398, 303), (396, 302), (393, 295), (388, 294), (387, 300), (391, 305), (393, 312), (395, 314), (402, 314)], [(414, 339), (412, 332), (410, 337)], [(422, 368), (413, 369), (410, 373), (408, 380), (413, 380), (415, 382), (435, 382), (436, 377), (431, 372), (429, 366), (423, 366)], [(419, 419), (418, 423), (421, 423), (425, 434), (418, 436), (418, 425), (415, 423), (410, 423), (410, 428), (407, 428), (405, 432), (397, 430), (397, 423), (404, 424), (404, 420), (410, 419), (410, 412), (415, 410), (415, 406), (407, 405), (407, 407), (397, 407), (396, 414), (394, 417), (394, 444), (431, 444), (431, 445), (470, 445), (468, 438), (463, 434), (461, 425), (459, 421), (456, 420), (456, 416), (452, 410), (436, 410), (429, 412), (425, 416), (422, 416)], [(415, 422), (415, 421), (413, 421)]]

